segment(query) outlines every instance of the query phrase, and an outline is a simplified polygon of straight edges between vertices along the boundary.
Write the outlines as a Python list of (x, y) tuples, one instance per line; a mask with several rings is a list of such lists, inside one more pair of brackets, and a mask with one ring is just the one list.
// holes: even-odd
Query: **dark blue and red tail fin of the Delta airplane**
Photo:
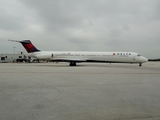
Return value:
[(28, 53), (40, 51), (32, 44), (30, 40), (22, 40), (22, 41), (10, 40), (10, 41), (20, 42)]

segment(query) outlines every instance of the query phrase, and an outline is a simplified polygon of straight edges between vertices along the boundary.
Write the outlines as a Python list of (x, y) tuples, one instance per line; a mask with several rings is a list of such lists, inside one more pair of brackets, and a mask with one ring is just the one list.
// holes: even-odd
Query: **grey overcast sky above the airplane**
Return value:
[(160, 58), (160, 0), (1, 0), (0, 53), (130, 51)]

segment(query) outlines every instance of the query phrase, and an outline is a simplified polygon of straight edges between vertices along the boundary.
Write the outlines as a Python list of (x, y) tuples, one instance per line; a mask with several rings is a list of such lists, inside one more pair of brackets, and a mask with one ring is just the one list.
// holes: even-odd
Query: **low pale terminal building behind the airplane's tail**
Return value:
[(17, 54), (0, 54), (0, 62), (30, 62), (30, 57), (24, 52), (18, 52)]

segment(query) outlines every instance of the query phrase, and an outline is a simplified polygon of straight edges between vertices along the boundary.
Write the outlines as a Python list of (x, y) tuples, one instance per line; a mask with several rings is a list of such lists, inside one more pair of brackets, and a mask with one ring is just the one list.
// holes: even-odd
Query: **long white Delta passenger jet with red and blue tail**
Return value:
[(21, 43), (31, 57), (39, 60), (69, 62), (70, 66), (76, 66), (79, 62), (137, 63), (142, 66), (142, 63), (148, 61), (136, 52), (41, 51), (30, 40), (9, 41)]

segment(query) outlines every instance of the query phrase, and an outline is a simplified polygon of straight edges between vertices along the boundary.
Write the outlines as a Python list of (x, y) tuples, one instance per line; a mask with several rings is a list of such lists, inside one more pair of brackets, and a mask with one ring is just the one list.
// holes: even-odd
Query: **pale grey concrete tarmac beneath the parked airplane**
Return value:
[(0, 120), (160, 120), (160, 62), (0, 63)]

